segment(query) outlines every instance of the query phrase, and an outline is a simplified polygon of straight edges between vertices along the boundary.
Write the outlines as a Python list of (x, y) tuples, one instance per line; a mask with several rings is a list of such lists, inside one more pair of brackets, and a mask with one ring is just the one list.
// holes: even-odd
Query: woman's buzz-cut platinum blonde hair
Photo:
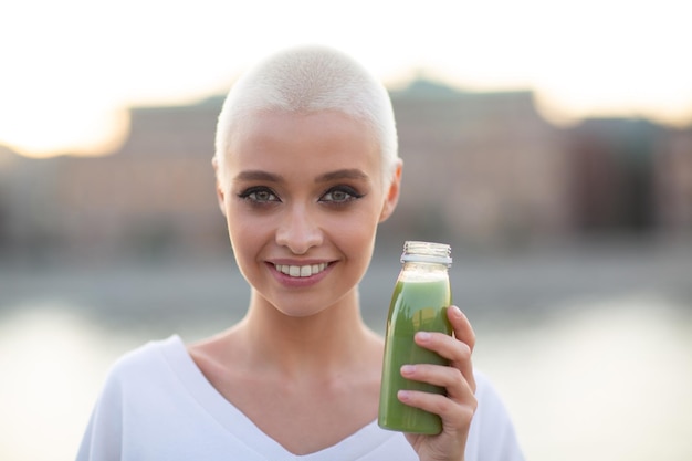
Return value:
[(335, 111), (365, 123), (379, 144), (385, 184), (398, 163), (397, 129), (385, 86), (346, 54), (324, 46), (281, 51), (241, 76), (229, 92), (217, 124), (214, 158), (223, 170), (239, 123), (259, 112)]

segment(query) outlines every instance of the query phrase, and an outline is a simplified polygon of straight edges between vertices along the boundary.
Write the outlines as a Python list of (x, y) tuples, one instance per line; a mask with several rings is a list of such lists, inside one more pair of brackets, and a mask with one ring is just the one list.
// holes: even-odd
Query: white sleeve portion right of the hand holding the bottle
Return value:
[(514, 426), (495, 388), (475, 371), (478, 409), (466, 443), (468, 460), (524, 461)]

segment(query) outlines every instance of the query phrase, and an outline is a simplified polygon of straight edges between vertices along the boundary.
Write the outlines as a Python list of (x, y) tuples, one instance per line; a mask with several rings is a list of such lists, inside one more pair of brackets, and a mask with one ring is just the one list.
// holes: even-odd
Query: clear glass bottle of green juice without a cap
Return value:
[(436, 434), (442, 430), (440, 417), (402, 404), (397, 391), (445, 392), (442, 387), (403, 378), (401, 366), (449, 365), (437, 353), (418, 346), (413, 335), (419, 331), (452, 334), (447, 318), (447, 308), (452, 303), (448, 272), (452, 264), (451, 248), (443, 243), (407, 241), (401, 263), (387, 318), (378, 423), (384, 429)]

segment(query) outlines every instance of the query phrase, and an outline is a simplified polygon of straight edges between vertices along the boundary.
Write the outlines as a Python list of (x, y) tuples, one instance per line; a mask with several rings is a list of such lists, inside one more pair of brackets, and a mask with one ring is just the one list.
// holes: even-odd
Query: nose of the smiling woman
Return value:
[(289, 248), (293, 254), (305, 254), (322, 242), (322, 229), (306, 207), (296, 205), (286, 210), (276, 230), (277, 244)]

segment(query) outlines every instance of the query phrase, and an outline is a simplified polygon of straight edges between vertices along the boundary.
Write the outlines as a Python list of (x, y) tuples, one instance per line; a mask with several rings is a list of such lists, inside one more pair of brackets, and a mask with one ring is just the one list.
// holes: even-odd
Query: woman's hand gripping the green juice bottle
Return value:
[(421, 461), (463, 460), (471, 419), (478, 405), (471, 364), (475, 344), (473, 328), (457, 306), (450, 306), (447, 316), (454, 332), (453, 337), (443, 333), (419, 332), (416, 344), (448, 358), (450, 366), (413, 364), (401, 367), (401, 376), (407, 379), (447, 389), (447, 396), (413, 390), (398, 394), (403, 404), (442, 418), (442, 432), (437, 436), (406, 434)]

